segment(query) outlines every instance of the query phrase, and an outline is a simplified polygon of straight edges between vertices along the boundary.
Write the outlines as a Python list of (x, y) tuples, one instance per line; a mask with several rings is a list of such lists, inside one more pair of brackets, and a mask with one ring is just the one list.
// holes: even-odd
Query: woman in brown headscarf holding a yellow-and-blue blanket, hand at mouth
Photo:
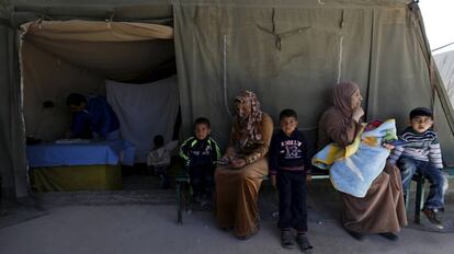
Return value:
[[(342, 147), (353, 142), (364, 115), (362, 99), (360, 88), (353, 82), (339, 83), (333, 88), (333, 105), (319, 122), (319, 149), (330, 142)], [(344, 205), (342, 224), (353, 238), (362, 240), (366, 233), (378, 233), (388, 240), (398, 240), (396, 233), (407, 224), (407, 215), (400, 172), (396, 166), (387, 163), (365, 197), (341, 194)]]

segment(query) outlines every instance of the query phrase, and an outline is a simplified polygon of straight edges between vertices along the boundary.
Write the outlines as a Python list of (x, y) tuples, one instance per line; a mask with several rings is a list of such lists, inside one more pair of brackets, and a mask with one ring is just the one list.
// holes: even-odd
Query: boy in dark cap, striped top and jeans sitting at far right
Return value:
[[(442, 228), (436, 212), (444, 210), (444, 192), (447, 188), (447, 178), (442, 172), (442, 154), (438, 135), (432, 129), (433, 113), (427, 107), (417, 107), (410, 112), (410, 126), (400, 135), (406, 145), (396, 146), (389, 155), (389, 162), (400, 169), (402, 187), (407, 196), (408, 186), (416, 172), (431, 183), (430, 193), (425, 199), (422, 212), (429, 221)], [(408, 196), (407, 196), (408, 198)]]

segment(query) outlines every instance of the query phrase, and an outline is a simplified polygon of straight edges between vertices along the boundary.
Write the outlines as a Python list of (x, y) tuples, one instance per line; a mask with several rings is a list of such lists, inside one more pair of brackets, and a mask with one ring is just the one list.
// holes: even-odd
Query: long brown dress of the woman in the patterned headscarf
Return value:
[(242, 155), (247, 165), (232, 169), (218, 166), (215, 171), (216, 182), (216, 221), (220, 228), (232, 228), (237, 236), (247, 236), (258, 230), (258, 194), (263, 176), (268, 175), (268, 152), (273, 123), (263, 114), (260, 123), (262, 140), (241, 149), (238, 137), (241, 129), (234, 125), (227, 153)]

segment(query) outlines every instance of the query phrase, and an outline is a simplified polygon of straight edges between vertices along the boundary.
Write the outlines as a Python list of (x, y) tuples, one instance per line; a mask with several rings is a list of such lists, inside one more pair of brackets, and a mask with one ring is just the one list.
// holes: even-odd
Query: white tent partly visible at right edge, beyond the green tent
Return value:
[(446, 88), (451, 104), (454, 106), (454, 50), (436, 54), (433, 58)]

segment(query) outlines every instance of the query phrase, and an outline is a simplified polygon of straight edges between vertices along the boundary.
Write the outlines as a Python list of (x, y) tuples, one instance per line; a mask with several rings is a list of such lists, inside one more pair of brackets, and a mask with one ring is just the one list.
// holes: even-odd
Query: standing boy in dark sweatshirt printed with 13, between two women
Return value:
[[(296, 242), (302, 251), (313, 249), (306, 236), (306, 181), (310, 181), (307, 142), (296, 127), (296, 112), (284, 109), (280, 116), (281, 130), (275, 134), (270, 145), (270, 176), (279, 190), (279, 228), (281, 244), (293, 249), (291, 229), (296, 230)], [(277, 182), (277, 184), (276, 184)]]

